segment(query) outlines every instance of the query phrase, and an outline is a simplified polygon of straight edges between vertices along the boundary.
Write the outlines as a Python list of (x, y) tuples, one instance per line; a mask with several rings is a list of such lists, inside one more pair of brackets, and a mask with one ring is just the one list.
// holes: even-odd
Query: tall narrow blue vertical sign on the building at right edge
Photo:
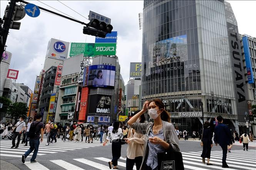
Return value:
[(244, 45), (244, 57), (245, 57), (245, 63), (246, 63), (246, 71), (247, 71), (247, 78), (248, 83), (254, 83), (254, 77), (253, 77), (253, 69), (251, 68), (251, 58), (250, 58), (250, 50), (249, 50), (249, 44), (248, 44), (248, 37), (243, 37), (243, 45)]

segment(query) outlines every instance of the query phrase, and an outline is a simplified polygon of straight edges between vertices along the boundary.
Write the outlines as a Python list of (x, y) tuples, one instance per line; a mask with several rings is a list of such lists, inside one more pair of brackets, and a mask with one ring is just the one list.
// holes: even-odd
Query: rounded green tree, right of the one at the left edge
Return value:
[(8, 109), (8, 113), (12, 115), (12, 118), (13, 117), (15, 118), (15, 123), (18, 117), (27, 115), (27, 112), (28, 112), (27, 104), (22, 102), (13, 103)]

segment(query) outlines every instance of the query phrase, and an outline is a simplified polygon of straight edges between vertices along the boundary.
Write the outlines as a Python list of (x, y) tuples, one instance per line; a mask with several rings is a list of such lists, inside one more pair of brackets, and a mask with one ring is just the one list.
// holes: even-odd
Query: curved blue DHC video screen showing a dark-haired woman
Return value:
[(115, 66), (92, 65), (89, 67), (87, 86), (114, 87)]

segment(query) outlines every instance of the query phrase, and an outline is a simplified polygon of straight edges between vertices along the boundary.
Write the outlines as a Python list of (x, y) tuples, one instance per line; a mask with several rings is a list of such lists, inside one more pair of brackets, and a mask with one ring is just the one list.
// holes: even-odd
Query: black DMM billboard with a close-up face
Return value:
[(104, 94), (90, 95), (89, 113), (110, 114), (111, 96)]

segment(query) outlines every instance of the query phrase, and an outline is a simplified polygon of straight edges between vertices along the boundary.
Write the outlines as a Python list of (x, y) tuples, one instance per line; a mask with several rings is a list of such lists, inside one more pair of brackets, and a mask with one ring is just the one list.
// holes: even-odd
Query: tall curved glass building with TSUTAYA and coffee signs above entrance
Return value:
[[(238, 130), (235, 37), (228, 31), (235, 18), (228, 5), (222, 0), (144, 1), (142, 101), (162, 99), (180, 130), (200, 131), (202, 118), (214, 124), (219, 115)], [(237, 24), (229, 29), (237, 31)]]

